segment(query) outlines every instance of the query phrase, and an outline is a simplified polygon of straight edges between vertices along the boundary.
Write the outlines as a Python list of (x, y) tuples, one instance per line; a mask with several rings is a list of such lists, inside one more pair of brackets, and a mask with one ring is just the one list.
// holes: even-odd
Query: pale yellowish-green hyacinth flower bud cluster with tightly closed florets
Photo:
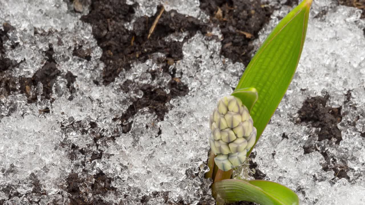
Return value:
[(228, 171), (241, 165), (256, 140), (256, 128), (245, 105), (239, 98), (226, 96), (218, 101), (210, 116), (210, 146), (217, 155), (219, 169)]

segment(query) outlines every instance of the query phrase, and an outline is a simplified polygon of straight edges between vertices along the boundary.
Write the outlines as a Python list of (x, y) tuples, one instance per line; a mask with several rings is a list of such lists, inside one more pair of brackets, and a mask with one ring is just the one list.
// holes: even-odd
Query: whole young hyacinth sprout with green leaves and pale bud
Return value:
[[(231, 179), (245, 162), (278, 107), (295, 74), (312, 0), (304, 0), (285, 16), (261, 45), (231, 96), (223, 97), (210, 116), (208, 159), (217, 205), (251, 201), (261, 205), (296, 205), (289, 188), (264, 180)], [(260, 97), (259, 97), (260, 96)]]

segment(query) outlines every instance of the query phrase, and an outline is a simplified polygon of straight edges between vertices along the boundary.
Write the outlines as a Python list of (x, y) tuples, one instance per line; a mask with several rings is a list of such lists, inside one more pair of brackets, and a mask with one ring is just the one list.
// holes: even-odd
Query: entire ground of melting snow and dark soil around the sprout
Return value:
[[(0, 0), (0, 204), (214, 204), (208, 116), (297, 3)], [(314, 2), (293, 82), (236, 177), (364, 204), (364, 9)]]

